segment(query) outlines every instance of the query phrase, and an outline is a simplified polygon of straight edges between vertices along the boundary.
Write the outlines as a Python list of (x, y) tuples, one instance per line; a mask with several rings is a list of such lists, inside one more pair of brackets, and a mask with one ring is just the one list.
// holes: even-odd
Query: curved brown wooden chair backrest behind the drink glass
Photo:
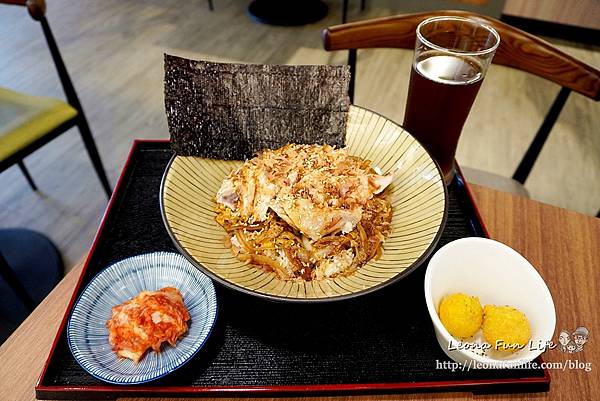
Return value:
[(469, 17), (491, 25), (500, 34), (493, 63), (545, 78), (594, 100), (600, 99), (600, 71), (563, 53), (550, 43), (494, 18), (465, 11), (434, 11), (377, 18), (323, 31), (326, 50), (392, 47), (413, 49), (415, 30), (426, 18), (440, 15)]

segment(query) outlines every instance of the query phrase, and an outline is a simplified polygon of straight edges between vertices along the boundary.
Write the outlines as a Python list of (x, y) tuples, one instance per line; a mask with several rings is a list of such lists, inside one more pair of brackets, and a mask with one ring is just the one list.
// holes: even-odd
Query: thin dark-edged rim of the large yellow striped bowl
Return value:
[(260, 293), (260, 292), (254, 291), (254, 290), (250, 290), (241, 285), (232, 283), (232, 282), (220, 277), (219, 275), (215, 274), (210, 269), (204, 267), (202, 265), (202, 263), (197, 261), (192, 255), (190, 255), (190, 253), (183, 246), (181, 246), (181, 244), (179, 243), (179, 240), (177, 239), (177, 237), (175, 236), (175, 233), (173, 232), (173, 229), (171, 228), (171, 225), (169, 224), (169, 220), (167, 219), (167, 213), (166, 213), (165, 205), (164, 205), (164, 197), (165, 197), (167, 176), (169, 175), (169, 171), (171, 170), (171, 165), (173, 164), (175, 159), (178, 157), (177, 154), (173, 154), (173, 156), (169, 160), (169, 163), (167, 164), (167, 167), (165, 168), (165, 172), (163, 173), (163, 176), (162, 176), (162, 180), (160, 183), (159, 202), (160, 202), (160, 213), (162, 216), (163, 223), (165, 224), (165, 228), (167, 229), (167, 232), (169, 233), (169, 236), (171, 237), (171, 240), (173, 241), (173, 244), (175, 244), (175, 247), (177, 248), (177, 250), (179, 252), (181, 252), (181, 254), (183, 254), (194, 266), (196, 266), (198, 269), (200, 269), (204, 274), (206, 274), (211, 279), (224, 285), (227, 288), (241, 291), (245, 294), (260, 297), (263, 299), (268, 299), (268, 300), (277, 301), (277, 302), (284, 302), (284, 303), (285, 302), (295, 302), (295, 303), (332, 302), (332, 301), (341, 301), (344, 299), (355, 298), (355, 297), (358, 297), (361, 295), (365, 295), (365, 294), (377, 291), (377, 290), (379, 290), (383, 287), (386, 287), (388, 285), (391, 285), (393, 283), (396, 283), (397, 281), (402, 280), (403, 278), (408, 276), (410, 273), (415, 271), (433, 253), (436, 245), (438, 244), (440, 238), (442, 237), (442, 232), (444, 231), (444, 227), (446, 226), (446, 220), (448, 219), (448, 187), (444, 184), (442, 169), (440, 168), (439, 163), (431, 156), (431, 153), (429, 152), (429, 150), (427, 150), (427, 148), (425, 148), (423, 146), (423, 144), (419, 140), (417, 140), (417, 138), (412, 136), (412, 134), (410, 132), (408, 132), (407, 130), (405, 130), (400, 124), (394, 122), (393, 120), (390, 120), (389, 118), (385, 117), (384, 115), (382, 115), (380, 113), (371, 111), (367, 108), (355, 106), (355, 105), (351, 105), (350, 107), (356, 108), (356, 109), (362, 109), (369, 113), (373, 113), (375, 115), (378, 115), (381, 118), (386, 119), (390, 123), (400, 127), (407, 135), (409, 135), (415, 142), (417, 142), (419, 144), (419, 146), (421, 146), (423, 148), (423, 150), (425, 150), (425, 152), (427, 153), (427, 156), (429, 156), (429, 159), (431, 159), (431, 161), (433, 161), (436, 171), (442, 180), (442, 187), (444, 190), (444, 214), (442, 216), (442, 220), (440, 221), (438, 231), (435, 234), (435, 237), (433, 238), (433, 240), (431, 241), (431, 244), (429, 244), (429, 246), (421, 254), (421, 256), (419, 256), (410, 266), (405, 268), (401, 273), (398, 273), (395, 277), (393, 277), (389, 280), (386, 280), (384, 282), (381, 282), (379, 284), (376, 284), (374, 286), (365, 288), (360, 291), (355, 291), (350, 294), (335, 295), (335, 296), (329, 296), (329, 297), (323, 297), (323, 298), (293, 298), (293, 297), (283, 297), (283, 296), (277, 296), (277, 295), (271, 295), (271, 294), (263, 294), (263, 293)]

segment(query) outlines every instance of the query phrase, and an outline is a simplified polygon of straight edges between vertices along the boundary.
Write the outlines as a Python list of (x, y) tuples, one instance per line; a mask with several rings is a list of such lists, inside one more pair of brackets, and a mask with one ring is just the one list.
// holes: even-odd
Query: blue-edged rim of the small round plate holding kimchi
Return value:
[[(213, 329), (215, 327), (215, 323), (217, 321), (217, 317), (218, 317), (218, 313), (219, 313), (219, 303), (217, 302), (217, 293), (216, 293), (216, 289), (215, 286), (213, 284), (213, 282), (211, 281), (210, 277), (209, 280), (206, 281), (206, 289), (208, 289), (208, 292), (211, 293), (211, 296), (207, 297), (208, 299), (208, 303), (209, 304), (213, 304), (214, 305), (214, 316), (212, 316), (212, 319), (210, 319), (210, 316), (207, 319), (207, 326), (208, 330), (206, 332), (206, 336), (202, 341), (198, 341), (195, 343), (194, 347), (194, 351), (183, 361), (181, 361), (181, 363), (174, 365), (172, 368), (170, 369), (166, 369), (164, 372), (161, 372), (159, 375), (156, 376), (151, 376), (147, 379), (143, 379), (143, 380), (136, 380), (136, 381), (130, 381), (130, 382), (121, 382), (118, 380), (111, 380), (108, 379), (106, 377), (103, 377), (102, 375), (99, 375), (98, 373), (96, 373), (94, 370), (89, 369), (89, 367), (86, 366), (86, 364), (84, 363), (84, 361), (80, 361), (80, 358), (77, 357), (77, 353), (75, 352), (75, 344), (73, 343), (73, 338), (71, 336), (71, 332), (72, 332), (72, 317), (73, 314), (77, 308), (77, 306), (79, 305), (79, 302), (81, 301), (81, 298), (83, 297), (83, 295), (85, 294), (85, 292), (88, 290), (88, 288), (92, 285), (92, 283), (98, 278), (100, 277), (101, 274), (103, 274), (104, 272), (106, 272), (108, 269), (113, 268), (114, 266), (121, 264), (129, 259), (134, 259), (134, 258), (145, 258), (148, 257), (149, 255), (157, 255), (157, 256), (167, 256), (167, 255), (176, 255), (179, 257), (182, 257), (182, 259), (186, 262), (189, 263), (189, 259), (187, 257), (183, 257), (183, 255), (178, 254), (176, 252), (167, 252), (167, 251), (157, 251), (157, 252), (147, 252), (147, 253), (142, 253), (139, 255), (133, 255), (133, 256), (128, 256), (126, 258), (120, 259), (114, 263), (111, 263), (108, 267), (102, 269), (100, 272), (96, 273), (96, 275), (90, 280), (90, 282), (85, 286), (85, 288), (83, 289), (83, 291), (81, 291), (81, 294), (79, 294), (79, 296), (77, 297), (77, 301), (75, 301), (75, 303), (73, 304), (73, 308), (71, 309), (71, 313), (69, 315), (69, 320), (67, 322), (67, 343), (69, 345), (69, 350), (71, 351), (71, 355), (73, 355), (73, 358), (75, 359), (75, 361), (77, 361), (77, 363), (79, 364), (79, 366), (81, 366), (81, 368), (83, 370), (85, 370), (87, 373), (89, 373), (90, 375), (92, 375), (93, 377), (95, 377), (96, 379), (102, 380), (103, 382), (106, 383), (110, 383), (110, 384), (119, 384), (119, 385), (136, 385), (136, 384), (143, 384), (143, 383), (148, 383), (154, 380), (158, 380), (168, 374), (173, 373), (175, 370), (179, 369), (180, 367), (182, 367), (183, 365), (185, 365), (186, 363), (188, 363), (190, 360), (192, 360), (194, 358), (194, 356), (196, 356), (196, 354), (202, 349), (202, 347), (204, 346), (204, 344), (206, 344), (206, 341), (208, 341), (208, 339), (210, 338)], [(193, 266), (193, 264), (192, 264)], [(200, 274), (203, 274), (202, 270), (199, 271)], [(211, 321), (209, 321), (211, 320)]]

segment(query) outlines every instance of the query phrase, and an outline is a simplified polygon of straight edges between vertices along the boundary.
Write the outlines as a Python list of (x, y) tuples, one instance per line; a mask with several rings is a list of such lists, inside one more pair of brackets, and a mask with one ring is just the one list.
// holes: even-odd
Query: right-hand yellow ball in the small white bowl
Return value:
[(518, 351), (531, 338), (527, 316), (510, 306), (486, 305), (483, 309), (483, 337), (492, 348)]

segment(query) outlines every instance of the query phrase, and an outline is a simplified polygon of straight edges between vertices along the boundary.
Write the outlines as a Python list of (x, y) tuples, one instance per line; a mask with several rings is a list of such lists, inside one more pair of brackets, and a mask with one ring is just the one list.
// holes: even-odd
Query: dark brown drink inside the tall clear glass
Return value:
[(474, 58), (436, 50), (413, 65), (403, 126), (440, 164), (446, 183), (454, 176), (458, 138), (483, 75)]

